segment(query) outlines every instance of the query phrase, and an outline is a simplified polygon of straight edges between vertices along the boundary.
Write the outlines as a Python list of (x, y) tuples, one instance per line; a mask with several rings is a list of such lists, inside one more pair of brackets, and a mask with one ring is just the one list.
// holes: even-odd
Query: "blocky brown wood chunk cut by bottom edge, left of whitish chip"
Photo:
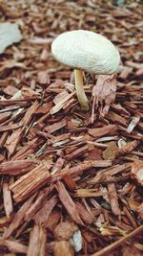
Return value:
[(74, 256), (72, 244), (70, 244), (68, 241), (55, 242), (53, 244), (53, 253), (54, 256)]

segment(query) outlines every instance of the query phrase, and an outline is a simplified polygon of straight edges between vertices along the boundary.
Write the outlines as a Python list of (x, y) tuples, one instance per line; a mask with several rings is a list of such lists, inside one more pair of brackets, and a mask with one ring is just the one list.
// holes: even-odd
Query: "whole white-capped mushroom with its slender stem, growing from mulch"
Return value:
[(59, 62), (74, 68), (77, 98), (85, 110), (89, 110), (90, 105), (84, 91), (83, 71), (110, 75), (120, 61), (118, 50), (109, 39), (85, 30), (58, 35), (52, 42), (51, 53)]

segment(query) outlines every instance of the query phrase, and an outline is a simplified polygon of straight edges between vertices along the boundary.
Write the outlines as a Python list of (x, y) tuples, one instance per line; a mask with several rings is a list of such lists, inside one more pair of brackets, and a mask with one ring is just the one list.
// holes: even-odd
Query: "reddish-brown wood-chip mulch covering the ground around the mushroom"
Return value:
[[(142, 255), (142, 12), (135, 1), (0, 2), (0, 21), (23, 35), (0, 60), (0, 255)], [(106, 115), (106, 101), (92, 105), (97, 78), (85, 74), (85, 112), (72, 70), (51, 56), (74, 29), (119, 49)]]

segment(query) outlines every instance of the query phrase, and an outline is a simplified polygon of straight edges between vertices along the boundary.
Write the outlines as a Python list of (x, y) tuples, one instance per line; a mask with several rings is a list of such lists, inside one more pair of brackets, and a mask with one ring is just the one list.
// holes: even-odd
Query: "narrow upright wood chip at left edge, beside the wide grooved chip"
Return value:
[(12, 199), (11, 199), (9, 184), (6, 182), (3, 184), (3, 198), (4, 198), (5, 212), (8, 219), (10, 219), (10, 216), (13, 213), (13, 206), (12, 206)]

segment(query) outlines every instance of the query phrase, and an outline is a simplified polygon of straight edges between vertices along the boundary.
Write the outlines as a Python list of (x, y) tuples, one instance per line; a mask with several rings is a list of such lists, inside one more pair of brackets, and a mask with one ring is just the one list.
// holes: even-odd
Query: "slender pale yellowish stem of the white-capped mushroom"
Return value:
[(75, 76), (75, 90), (77, 94), (77, 99), (84, 110), (89, 110), (89, 100), (85, 94), (83, 86), (83, 71), (79, 69), (74, 69)]

